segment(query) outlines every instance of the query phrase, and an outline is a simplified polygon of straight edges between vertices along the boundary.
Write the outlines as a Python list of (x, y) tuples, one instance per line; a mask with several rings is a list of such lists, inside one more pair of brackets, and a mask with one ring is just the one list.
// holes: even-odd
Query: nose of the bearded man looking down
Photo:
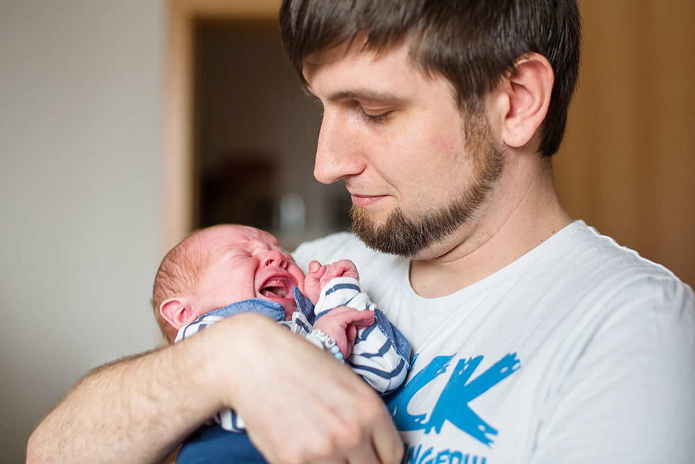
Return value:
[(325, 111), (316, 146), (313, 177), (322, 184), (357, 175), (363, 170), (357, 131), (350, 130), (345, 115)]

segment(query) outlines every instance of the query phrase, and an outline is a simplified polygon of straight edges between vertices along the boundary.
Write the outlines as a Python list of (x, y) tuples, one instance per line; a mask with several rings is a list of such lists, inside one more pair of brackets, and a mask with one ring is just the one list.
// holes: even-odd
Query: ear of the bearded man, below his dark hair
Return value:
[(548, 113), (555, 73), (548, 58), (532, 53), (519, 58), (498, 88), (502, 102), (502, 138), (510, 147), (526, 145)]

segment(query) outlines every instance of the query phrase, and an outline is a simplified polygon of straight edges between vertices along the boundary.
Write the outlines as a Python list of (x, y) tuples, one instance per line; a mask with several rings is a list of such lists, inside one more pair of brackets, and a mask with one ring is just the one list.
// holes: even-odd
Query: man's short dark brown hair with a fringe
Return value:
[(282, 44), (302, 83), (309, 54), (350, 43), (382, 51), (410, 40), (411, 60), (441, 74), (461, 109), (480, 109), (486, 94), (526, 54), (548, 58), (555, 72), (540, 152), (557, 152), (579, 72), (576, 0), (283, 0)]

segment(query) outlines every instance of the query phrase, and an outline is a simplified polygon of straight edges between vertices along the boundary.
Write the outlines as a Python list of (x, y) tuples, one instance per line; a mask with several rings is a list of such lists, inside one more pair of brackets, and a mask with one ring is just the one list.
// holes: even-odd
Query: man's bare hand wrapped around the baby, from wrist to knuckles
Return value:
[(245, 350), (222, 383), (230, 387), (221, 390), (270, 463), (400, 462), (402, 442), (389, 410), (367, 383), (256, 314), (206, 330), (219, 329), (222, 339), (235, 318), (245, 319), (238, 340)]

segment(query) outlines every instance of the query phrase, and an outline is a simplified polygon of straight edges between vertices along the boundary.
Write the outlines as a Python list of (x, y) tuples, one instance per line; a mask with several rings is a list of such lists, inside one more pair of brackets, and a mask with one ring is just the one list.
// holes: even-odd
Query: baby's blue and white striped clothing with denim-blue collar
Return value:
[[(221, 321), (225, 317), (243, 312), (259, 312), (288, 327), (293, 333), (304, 338), (311, 337), (312, 323), (338, 306), (352, 307), (356, 310), (374, 311), (372, 326), (357, 333), (352, 353), (347, 363), (358, 376), (361, 376), (380, 394), (387, 394), (398, 388), (407, 376), (410, 367), (410, 344), (400, 331), (386, 319), (384, 313), (376, 308), (367, 294), (361, 291), (359, 281), (354, 278), (339, 277), (328, 282), (321, 290), (316, 307), (311, 311), (311, 303), (295, 287), (295, 301), (300, 311), (293, 313), (291, 321), (283, 321), (284, 308), (279, 303), (252, 298), (231, 303), (207, 314), (179, 329), (175, 342), (192, 337), (199, 330)], [(322, 346), (322, 343), (315, 343)], [(213, 417), (222, 429), (242, 433), (245, 423), (234, 410), (221, 410)]]

